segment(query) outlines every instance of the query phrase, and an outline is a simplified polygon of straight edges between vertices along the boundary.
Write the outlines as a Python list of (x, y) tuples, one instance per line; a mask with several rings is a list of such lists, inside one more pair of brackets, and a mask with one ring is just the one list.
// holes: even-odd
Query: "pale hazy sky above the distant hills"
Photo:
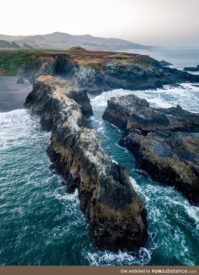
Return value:
[(2, 0), (0, 33), (55, 31), (145, 45), (199, 46), (199, 0)]

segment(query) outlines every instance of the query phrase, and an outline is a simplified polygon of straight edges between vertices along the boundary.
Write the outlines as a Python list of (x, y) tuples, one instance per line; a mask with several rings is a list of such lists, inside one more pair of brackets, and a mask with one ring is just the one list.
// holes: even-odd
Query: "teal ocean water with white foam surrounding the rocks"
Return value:
[[(199, 64), (199, 51), (192, 48), (137, 53), (169, 61), (174, 64), (171, 68)], [(146, 98), (150, 106), (179, 104), (199, 112), (197, 85), (164, 88), (103, 92), (91, 99), (94, 114), (87, 118), (112, 160), (129, 168), (132, 185), (145, 201), (149, 239), (136, 253), (93, 247), (77, 190), (66, 193), (62, 177), (49, 169), (45, 150), (50, 133), (40, 129), (39, 117), (25, 109), (0, 113), (0, 265), (199, 264), (199, 208), (173, 187), (160, 185), (138, 170), (132, 154), (118, 145), (122, 133), (102, 119), (108, 99), (129, 93)]]

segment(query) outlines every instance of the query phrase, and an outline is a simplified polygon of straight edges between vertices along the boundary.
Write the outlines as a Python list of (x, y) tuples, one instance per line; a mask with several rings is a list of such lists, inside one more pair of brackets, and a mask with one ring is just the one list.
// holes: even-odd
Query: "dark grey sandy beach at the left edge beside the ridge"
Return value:
[(23, 103), (32, 91), (32, 85), (24, 79), (24, 84), (16, 84), (17, 77), (0, 76), (0, 113), (16, 109), (27, 109)]

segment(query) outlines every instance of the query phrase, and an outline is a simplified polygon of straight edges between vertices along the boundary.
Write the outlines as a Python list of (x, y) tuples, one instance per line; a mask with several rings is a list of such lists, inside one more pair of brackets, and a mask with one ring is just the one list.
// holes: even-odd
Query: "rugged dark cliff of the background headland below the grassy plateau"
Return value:
[[(46, 54), (35, 57), (35, 62), (23, 65), (17, 76), (25, 76), (33, 82), (40, 74), (52, 76), (58, 73), (76, 83), (79, 90), (90, 94), (123, 88), (145, 90), (163, 88), (163, 85), (199, 82), (199, 76), (169, 67), (162, 68), (160, 63), (148, 55), (114, 54), (100, 56), (103, 52), (94, 52), (95, 56), (86, 56), (86, 51), (75, 50), (73, 54)], [(81, 56), (77, 56), (81, 52)], [(74, 56), (75, 55), (75, 56)]]

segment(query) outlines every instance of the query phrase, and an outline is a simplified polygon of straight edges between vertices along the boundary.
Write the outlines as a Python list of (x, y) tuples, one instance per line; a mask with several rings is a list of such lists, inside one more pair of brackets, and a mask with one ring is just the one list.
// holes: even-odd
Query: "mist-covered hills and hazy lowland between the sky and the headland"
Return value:
[(151, 49), (138, 43), (132, 43), (123, 39), (94, 37), (92, 35), (70, 35), (67, 33), (54, 32), (45, 35), (2, 35), (0, 40), (15, 41), (22, 45), (27, 43), (35, 45), (37, 48), (46, 49), (68, 49), (69, 47), (80, 45), (90, 50), (127, 50), (127, 49)]

